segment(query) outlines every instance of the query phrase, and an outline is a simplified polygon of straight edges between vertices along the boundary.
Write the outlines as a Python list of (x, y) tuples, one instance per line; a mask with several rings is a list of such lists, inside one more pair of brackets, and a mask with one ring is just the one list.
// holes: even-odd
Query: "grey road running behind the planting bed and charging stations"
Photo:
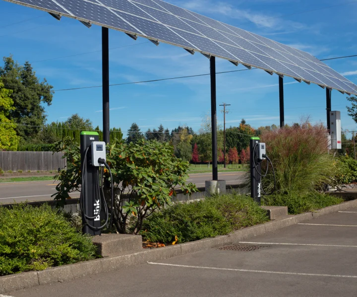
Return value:
[[(226, 180), (227, 185), (239, 184), (243, 172), (220, 172), (218, 178)], [(194, 183), (197, 187), (204, 187), (205, 181), (212, 179), (210, 173), (190, 174), (188, 182)], [(56, 182), (18, 182), (0, 183), (0, 203), (11, 203), (21, 201), (51, 200), (51, 195), (56, 193)], [(79, 193), (73, 193), (72, 198), (79, 198)]]

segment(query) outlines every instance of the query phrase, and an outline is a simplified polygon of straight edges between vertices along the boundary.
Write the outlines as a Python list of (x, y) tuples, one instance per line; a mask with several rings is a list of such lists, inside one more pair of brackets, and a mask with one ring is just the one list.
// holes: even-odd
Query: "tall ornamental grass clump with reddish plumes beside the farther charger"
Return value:
[[(333, 154), (328, 153), (327, 130), (323, 124), (305, 121), (285, 126), (265, 132), (261, 142), (267, 145), (279, 193), (308, 193), (333, 183), (336, 166)], [(272, 172), (262, 182), (268, 191), (272, 189)]]

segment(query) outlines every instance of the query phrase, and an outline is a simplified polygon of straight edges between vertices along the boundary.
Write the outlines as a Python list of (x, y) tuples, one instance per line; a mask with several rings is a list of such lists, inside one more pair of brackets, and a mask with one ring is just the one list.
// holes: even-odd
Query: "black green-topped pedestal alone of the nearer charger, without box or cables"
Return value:
[[(87, 151), (87, 160), (86, 160), (86, 171), (84, 172), (84, 187), (82, 187), (82, 196), (84, 197), (84, 207), (85, 207), (85, 213), (88, 216), (94, 216), (95, 210), (99, 210), (99, 200), (100, 197), (98, 196), (98, 192), (96, 190), (96, 186), (99, 182), (96, 178), (96, 172), (98, 172), (98, 167), (92, 166), (92, 149), (91, 149), (91, 144), (94, 141), (99, 141), (99, 134), (97, 132), (93, 131), (83, 131), (80, 134), (80, 153), (81, 153), (81, 170), (83, 170), (83, 160), (84, 160), (84, 153), (85, 150), (89, 147)], [(83, 185), (83, 181), (82, 181)], [(89, 234), (89, 235), (100, 235), (101, 231), (100, 230), (92, 230), (87, 224), (86, 220), (84, 218), (84, 214), (82, 211), (82, 221), (83, 221), (83, 229), (82, 232), (83, 234)], [(98, 213), (98, 216), (94, 219), (87, 219), (87, 222), (94, 226), (94, 227), (100, 227), (101, 226), (101, 219), (100, 219), (100, 213)]]

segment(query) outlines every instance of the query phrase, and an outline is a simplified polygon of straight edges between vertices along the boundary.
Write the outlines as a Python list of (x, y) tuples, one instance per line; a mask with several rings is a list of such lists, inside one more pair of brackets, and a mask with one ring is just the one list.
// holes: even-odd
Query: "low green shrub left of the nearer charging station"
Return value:
[(91, 239), (49, 205), (0, 207), (0, 276), (95, 258)]

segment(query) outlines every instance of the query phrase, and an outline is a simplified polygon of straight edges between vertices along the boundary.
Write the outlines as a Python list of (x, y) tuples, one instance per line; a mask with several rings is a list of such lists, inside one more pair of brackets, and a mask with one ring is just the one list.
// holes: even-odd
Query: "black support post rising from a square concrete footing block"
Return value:
[(212, 120), (212, 180), (218, 180), (217, 165), (217, 103), (216, 103), (216, 57), (210, 58), (211, 69), (211, 120)]

